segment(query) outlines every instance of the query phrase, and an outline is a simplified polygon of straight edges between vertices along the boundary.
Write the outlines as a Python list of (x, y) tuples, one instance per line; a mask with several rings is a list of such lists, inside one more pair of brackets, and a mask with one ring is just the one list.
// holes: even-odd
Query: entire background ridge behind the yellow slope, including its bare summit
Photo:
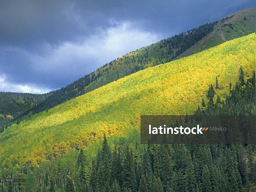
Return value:
[[(244, 20), (244, 17), (247, 20)], [(233, 29), (230, 23), (235, 24)], [(79, 78), (66, 87), (37, 97), (34, 96), (35, 100), (25, 99), (26, 102), (17, 103), (18, 101), (13, 102), (13, 98), (9, 98), (11, 93), (3, 92), (0, 97), (0, 100), (2, 98), (4, 101), (0, 103), (0, 110), (2, 111), (0, 114), (3, 116), (2, 118), (0, 117), (0, 125), (10, 120), (16, 123), (17, 119), (23, 120), (31, 116), (33, 114), (32, 111), (38, 113), (47, 108), (53, 108), (67, 100), (83, 95), (144, 68), (163, 64), (175, 58), (179, 59), (189, 56), (221, 44), (226, 40), (248, 35), (255, 32), (253, 26), (255, 26), (255, 8), (236, 12), (227, 16), (227, 18), (207, 23), (198, 28), (193, 28), (187, 32), (127, 53), (120, 58), (106, 63), (96, 71)], [(22, 98), (23, 96), (15, 93), (15, 97)], [(18, 100), (17, 98), (15, 99)], [(13, 106), (15, 106), (15, 110), (13, 110)], [(5, 116), (12, 116), (14, 119), (5, 118)], [(8, 126), (10, 126), (10, 123)]]

